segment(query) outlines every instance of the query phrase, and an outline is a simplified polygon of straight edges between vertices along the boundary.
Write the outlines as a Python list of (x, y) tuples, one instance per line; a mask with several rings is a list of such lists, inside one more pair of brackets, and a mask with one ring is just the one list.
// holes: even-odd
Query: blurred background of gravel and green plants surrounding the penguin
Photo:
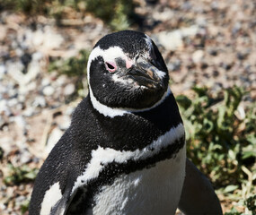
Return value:
[(159, 47), (188, 157), (226, 215), (256, 214), (255, 0), (0, 0), (0, 214), (28, 214), (35, 176), (88, 90), (98, 39)]

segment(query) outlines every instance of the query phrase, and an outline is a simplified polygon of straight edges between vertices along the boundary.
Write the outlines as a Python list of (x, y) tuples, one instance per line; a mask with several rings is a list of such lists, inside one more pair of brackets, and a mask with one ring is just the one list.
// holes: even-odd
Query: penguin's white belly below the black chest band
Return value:
[(174, 214), (181, 197), (185, 163), (184, 145), (172, 159), (117, 177), (94, 196), (93, 214)]

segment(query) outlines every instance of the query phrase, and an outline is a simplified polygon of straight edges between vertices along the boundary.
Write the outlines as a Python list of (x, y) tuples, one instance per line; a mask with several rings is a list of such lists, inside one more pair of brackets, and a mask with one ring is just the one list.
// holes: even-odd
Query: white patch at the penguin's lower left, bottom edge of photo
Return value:
[(40, 215), (48, 215), (50, 210), (62, 197), (59, 183), (55, 183), (49, 187), (49, 190), (44, 194), (43, 202), (41, 202)]

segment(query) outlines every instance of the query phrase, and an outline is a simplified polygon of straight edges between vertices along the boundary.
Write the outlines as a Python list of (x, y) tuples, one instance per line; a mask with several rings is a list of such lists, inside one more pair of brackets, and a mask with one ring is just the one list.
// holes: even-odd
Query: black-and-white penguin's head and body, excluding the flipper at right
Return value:
[(40, 168), (30, 215), (174, 214), (185, 177), (185, 132), (169, 74), (146, 34), (100, 39), (89, 94)]

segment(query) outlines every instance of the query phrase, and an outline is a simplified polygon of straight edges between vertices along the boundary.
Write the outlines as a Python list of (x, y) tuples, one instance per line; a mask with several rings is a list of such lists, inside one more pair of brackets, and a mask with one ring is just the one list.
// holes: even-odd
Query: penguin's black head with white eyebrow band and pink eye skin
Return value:
[(102, 105), (153, 107), (168, 89), (163, 56), (146, 34), (123, 30), (100, 39), (87, 64), (89, 94)]

